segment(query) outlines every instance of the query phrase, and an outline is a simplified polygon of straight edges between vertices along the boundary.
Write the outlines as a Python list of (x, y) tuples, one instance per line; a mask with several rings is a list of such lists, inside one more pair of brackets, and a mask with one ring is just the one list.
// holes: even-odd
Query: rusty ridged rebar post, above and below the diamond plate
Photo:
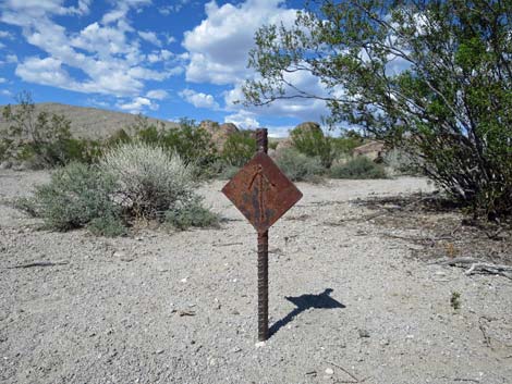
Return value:
[[(258, 152), (267, 153), (267, 129), (256, 129)], [(268, 339), (268, 231), (258, 233), (258, 340)]]

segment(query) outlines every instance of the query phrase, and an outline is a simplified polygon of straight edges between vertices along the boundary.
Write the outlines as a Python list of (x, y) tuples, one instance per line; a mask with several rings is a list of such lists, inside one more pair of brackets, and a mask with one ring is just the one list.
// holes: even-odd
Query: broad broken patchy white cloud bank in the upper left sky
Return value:
[(160, 82), (183, 71), (180, 66), (173, 67), (171, 62), (163, 69), (153, 66), (170, 59), (170, 51), (157, 51), (158, 60), (151, 61), (141, 50), (137, 37), (157, 45), (158, 37), (151, 32), (139, 35), (130, 25), (127, 15), (134, 8), (150, 4), (150, 0), (118, 1), (101, 21), (78, 32), (66, 30), (53, 21), (56, 15), (87, 12), (90, 3), (90, 0), (82, 0), (71, 9), (64, 7), (63, 0), (9, 0), (0, 21), (22, 27), (27, 42), (46, 54), (24, 58), (17, 64), (16, 75), (25, 82), (81, 92), (137, 97), (143, 92), (145, 82)]

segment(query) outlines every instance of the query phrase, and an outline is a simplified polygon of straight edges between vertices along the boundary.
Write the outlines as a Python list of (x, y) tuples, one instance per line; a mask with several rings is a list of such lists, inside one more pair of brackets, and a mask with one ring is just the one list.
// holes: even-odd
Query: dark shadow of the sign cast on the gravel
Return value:
[(289, 297), (287, 296), (285, 299), (291, 301), (295, 305), (295, 309), (288, 313), (284, 318), (278, 320), (269, 329), (270, 335), (277, 333), (281, 327), (290, 323), (297, 314), (304, 312), (305, 310), (315, 308), (315, 309), (336, 309), (336, 308), (345, 308), (340, 301), (334, 300), (330, 297), (332, 293), (331, 288), (325, 289), (321, 294), (318, 295), (301, 295), (297, 297)]

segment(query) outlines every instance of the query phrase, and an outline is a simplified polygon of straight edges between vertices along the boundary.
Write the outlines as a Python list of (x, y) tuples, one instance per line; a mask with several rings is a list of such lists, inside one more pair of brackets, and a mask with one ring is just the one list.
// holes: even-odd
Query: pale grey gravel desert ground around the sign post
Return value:
[[(0, 199), (47, 179), (0, 171)], [(0, 382), (512, 383), (512, 281), (343, 221), (375, 212), (358, 198), (431, 190), (424, 179), (298, 184), (270, 230), (264, 345), (256, 235), (222, 185), (202, 188), (220, 228), (118, 239), (38, 231), (0, 205)], [(54, 264), (13, 268), (34, 262)]]

